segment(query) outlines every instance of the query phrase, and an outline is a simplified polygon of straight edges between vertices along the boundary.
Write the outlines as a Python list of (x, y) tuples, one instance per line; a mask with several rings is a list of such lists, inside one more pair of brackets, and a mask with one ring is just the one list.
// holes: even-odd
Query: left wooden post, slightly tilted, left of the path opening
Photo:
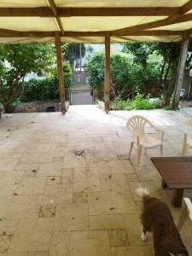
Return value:
[(65, 97), (63, 69), (62, 69), (60, 32), (55, 32), (55, 47), (56, 47), (56, 57), (57, 57), (57, 70), (58, 70), (58, 77), (59, 77), (61, 112), (66, 113), (66, 97)]

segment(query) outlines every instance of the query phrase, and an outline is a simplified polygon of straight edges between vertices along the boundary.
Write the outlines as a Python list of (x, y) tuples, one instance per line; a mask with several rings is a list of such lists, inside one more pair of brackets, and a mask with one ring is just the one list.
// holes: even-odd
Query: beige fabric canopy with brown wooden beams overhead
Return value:
[[(1, 0), (0, 43), (180, 41), (190, 36), (189, 0)], [(63, 33), (64, 31), (64, 33)]]

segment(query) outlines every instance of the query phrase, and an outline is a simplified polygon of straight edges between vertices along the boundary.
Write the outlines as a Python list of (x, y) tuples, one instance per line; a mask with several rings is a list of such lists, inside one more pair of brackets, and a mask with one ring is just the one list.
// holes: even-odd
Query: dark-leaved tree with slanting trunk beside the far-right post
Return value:
[[(189, 54), (186, 67), (191, 66), (192, 49), (189, 43)], [(151, 43), (151, 44), (124, 44), (123, 51), (133, 55), (133, 60), (141, 63), (146, 69), (150, 65), (149, 56), (153, 53), (160, 55), (161, 62), (158, 65), (159, 73), (157, 81), (163, 94), (164, 106), (170, 105), (171, 96), (177, 77), (177, 65), (181, 43)]]

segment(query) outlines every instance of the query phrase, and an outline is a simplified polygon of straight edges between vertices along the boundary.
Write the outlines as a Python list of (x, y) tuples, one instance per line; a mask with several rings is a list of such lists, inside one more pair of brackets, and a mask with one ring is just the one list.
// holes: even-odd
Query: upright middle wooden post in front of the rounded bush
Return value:
[(105, 35), (105, 84), (104, 84), (104, 101), (105, 111), (109, 111), (109, 88), (110, 88), (110, 32)]

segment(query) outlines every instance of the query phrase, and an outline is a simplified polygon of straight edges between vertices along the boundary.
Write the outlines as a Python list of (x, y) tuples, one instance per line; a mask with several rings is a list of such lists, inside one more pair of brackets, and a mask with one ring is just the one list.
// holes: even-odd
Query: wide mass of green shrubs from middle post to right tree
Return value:
[[(96, 91), (99, 100), (103, 100), (104, 87), (103, 53), (93, 55), (87, 64), (90, 86)], [(110, 57), (110, 99), (127, 99), (134, 95), (137, 88), (144, 94), (160, 96), (158, 85), (160, 68), (156, 63), (149, 63), (146, 69), (132, 61), (129, 55), (111, 55)]]

